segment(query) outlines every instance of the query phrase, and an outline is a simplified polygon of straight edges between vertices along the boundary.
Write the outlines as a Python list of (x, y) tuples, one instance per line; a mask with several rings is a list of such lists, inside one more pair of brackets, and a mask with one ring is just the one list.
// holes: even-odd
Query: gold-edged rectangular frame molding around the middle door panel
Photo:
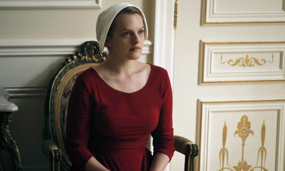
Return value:
[(285, 43), (285, 41), (249, 41), (249, 42), (243, 42), (243, 41), (233, 41), (233, 42), (203, 42), (201, 40), (201, 42), (204, 44), (203, 47), (203, 54), (202, 54), (202, 82), (200, 82), (201, 84), (203, 83), (243, 83), (243, 82), (276, 82), (276, 81), (285, 81), (284, 79), (268, 79), (268, 80), (219, 80), (219, 81), (205, 81), (204, 80), (204, 75), (205, 75), (205, 54), (206, 54), (206, 45), (208, 44), (261, 44), (261, 43)]

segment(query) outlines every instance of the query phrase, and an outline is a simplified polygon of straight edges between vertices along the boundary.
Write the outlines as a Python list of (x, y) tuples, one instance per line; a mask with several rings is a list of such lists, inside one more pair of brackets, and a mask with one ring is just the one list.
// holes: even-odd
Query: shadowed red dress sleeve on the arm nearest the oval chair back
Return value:
[(72, 165), (85, 170), (85, 164), (94, 155), (88, 150), (91, 97), (82, 75), (75, 80), (67, 109), (65, 150)]

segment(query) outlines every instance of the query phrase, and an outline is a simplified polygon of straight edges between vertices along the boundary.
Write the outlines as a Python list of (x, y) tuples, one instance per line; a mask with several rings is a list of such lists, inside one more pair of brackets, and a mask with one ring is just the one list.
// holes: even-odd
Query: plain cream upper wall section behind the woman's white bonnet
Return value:
[(153, 39), (155, 2), (102, 1), (101, 9), (0, 9), (0, 39), (96, 39), (100, 12), (112, 4), (132, 3), (143, 9)]

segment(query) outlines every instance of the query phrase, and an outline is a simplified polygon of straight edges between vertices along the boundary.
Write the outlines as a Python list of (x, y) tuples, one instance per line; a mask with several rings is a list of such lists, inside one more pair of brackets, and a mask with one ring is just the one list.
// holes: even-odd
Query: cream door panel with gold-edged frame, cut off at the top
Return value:
[(284, 0), (204, 0), (204, 23), (285, 22)]

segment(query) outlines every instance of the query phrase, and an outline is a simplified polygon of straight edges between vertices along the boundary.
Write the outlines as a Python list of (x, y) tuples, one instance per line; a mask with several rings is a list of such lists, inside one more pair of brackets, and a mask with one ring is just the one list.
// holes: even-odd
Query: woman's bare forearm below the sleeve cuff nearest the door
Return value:
[(169, 163), (169, 157), (163, 152), (157, 152), (153, 156), (151, 168), (149, 171), (163, 171)]

